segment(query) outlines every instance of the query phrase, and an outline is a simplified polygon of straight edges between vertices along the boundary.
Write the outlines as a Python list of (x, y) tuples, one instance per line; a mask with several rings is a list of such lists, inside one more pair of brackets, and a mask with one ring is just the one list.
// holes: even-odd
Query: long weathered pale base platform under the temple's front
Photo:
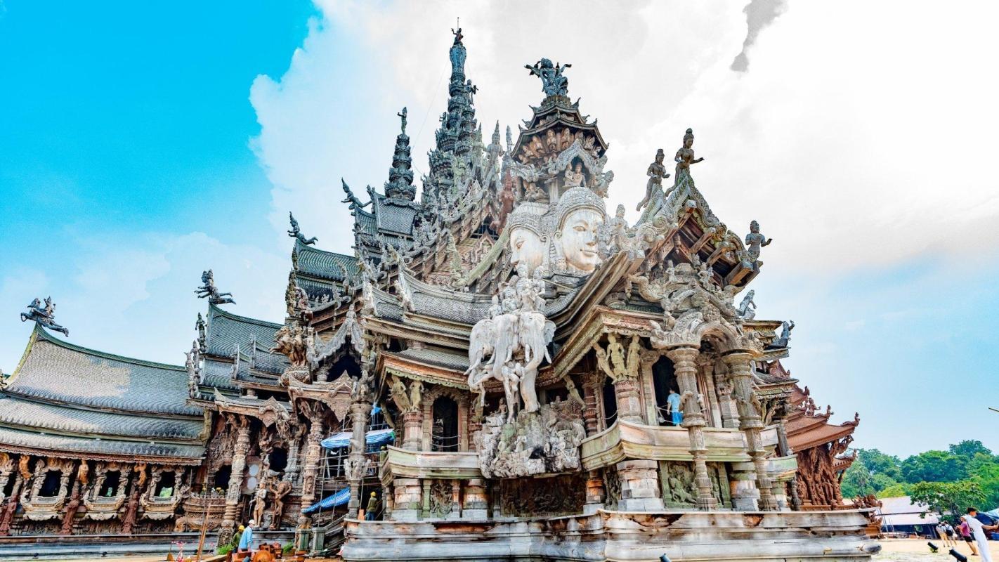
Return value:
[(347, 522), (347, 562), (452, 560), (866, 562), (880, 547), (862, 511), (598, 510), (489, 521)]

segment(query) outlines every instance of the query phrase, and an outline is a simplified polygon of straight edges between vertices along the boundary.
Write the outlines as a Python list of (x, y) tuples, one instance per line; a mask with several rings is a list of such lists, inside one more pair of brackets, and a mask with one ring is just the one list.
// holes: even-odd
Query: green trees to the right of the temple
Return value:
[(843, 474), (843, 497), (910, 496), (939, 513), (999, 507), (999, 455), (981, 441), (964, 440), (904, 460), (878, 449), (855, 451), (856, 460)]

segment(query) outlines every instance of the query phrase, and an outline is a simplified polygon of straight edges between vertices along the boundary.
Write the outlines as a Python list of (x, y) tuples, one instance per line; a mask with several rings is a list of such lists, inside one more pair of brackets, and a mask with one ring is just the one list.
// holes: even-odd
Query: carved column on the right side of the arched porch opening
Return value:
[(763, 420), (756, 408), (754, 390), (752, 388), (752, 373), (749, 361), (752, 355), (743, 351), (736, 351), (725, 355), (725, 362), (728, 363), (728, 378), (732, 384), (732, 393), (735, 395), (735, 403), (739, 410), (739, 429), (745, 433), (747, 451), (752, 458), (755, 469), (756, 489), (759, 491), (759, 509), (772, 511), (777, 504), (774, 501), (771, 491), (770, 476), (766, 469), (766, 451), (763, 449), (760, 439), (760, 429), (763, 427)]

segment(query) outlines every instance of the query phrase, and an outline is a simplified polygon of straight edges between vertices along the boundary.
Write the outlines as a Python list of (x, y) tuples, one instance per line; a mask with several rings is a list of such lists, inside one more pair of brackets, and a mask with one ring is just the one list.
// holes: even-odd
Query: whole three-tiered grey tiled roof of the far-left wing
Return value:
[(36, 327), (0, 391), (0, 451), (197, 464), (207, 427), (187, 397), (182, 366), (95, 351)]

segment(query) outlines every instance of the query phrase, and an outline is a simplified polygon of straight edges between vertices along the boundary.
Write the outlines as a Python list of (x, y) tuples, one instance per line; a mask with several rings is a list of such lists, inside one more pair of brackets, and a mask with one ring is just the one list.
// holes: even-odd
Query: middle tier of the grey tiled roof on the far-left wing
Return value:
[(197, 439), (204, 428), (198, 418), (154, 417), (73, 408), (0, 395), (0, 424), (27, 431), (87, 435)]

